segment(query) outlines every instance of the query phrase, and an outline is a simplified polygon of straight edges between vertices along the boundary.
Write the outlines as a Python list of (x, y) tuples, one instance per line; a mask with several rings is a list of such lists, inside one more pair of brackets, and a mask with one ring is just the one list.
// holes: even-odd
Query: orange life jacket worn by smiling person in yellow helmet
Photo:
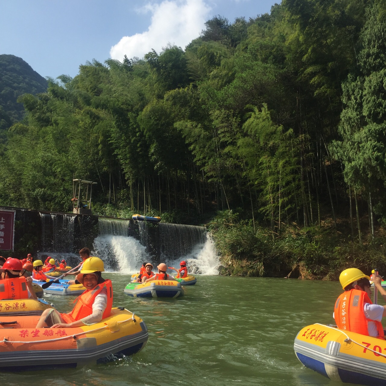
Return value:
[(98, 284), (91, 290), (86, 289), (82, 295), (78, 296), (78, 298), (74, 300), (74, 303), (77, 300), (78, 303), (76, 303), (74, 309), (70, 313), (60, 314), (64, 322), (72, 323), (76, 320), (81, 320), (86, 316), (91, 315), (93, 313), (94, 300), (104, 287), (107, 288), (107, 306), (103, 312), (102, 319), (109, 317), (111, 313), (111, 307), (113, 305), (113, 287), (111, 280), (106, 279), (104, 283)]

